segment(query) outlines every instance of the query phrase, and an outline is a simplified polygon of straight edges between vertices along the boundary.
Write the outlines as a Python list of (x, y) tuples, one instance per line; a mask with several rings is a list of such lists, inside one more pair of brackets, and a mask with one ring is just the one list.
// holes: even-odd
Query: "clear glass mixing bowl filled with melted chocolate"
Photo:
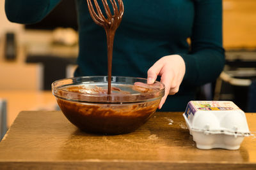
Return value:
[(125, 134), (147, 122), (164, 96), (163, 83), (108, 76), (66, 78), (52, 83), (52, 94), (67, 119), (90, 133)]

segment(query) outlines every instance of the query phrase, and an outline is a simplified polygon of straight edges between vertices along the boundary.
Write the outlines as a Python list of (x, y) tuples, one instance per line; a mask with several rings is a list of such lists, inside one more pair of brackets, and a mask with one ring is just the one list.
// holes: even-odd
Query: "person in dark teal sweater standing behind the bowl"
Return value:
[[(60, 1), (6, 0), (6, 16), (11, 22), (33, 24)], [(184, 111), (196, 99), (198, 87), (216, 80), (223, 70), (221, 0), (123, 2), (112, 75), (147, 77), (149, 84), (161, 77), (166, 89), (160, 111)], [(104, 29), (93, 22), (85, 0), (76, 0), (76, 8), (79, 55), (74, 76), (107, 75)]]

